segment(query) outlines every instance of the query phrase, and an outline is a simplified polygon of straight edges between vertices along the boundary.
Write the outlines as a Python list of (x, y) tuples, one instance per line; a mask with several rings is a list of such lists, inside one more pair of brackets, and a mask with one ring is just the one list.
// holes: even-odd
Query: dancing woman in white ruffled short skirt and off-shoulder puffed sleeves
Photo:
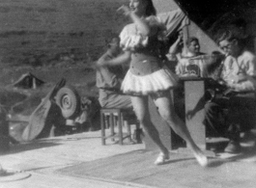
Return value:
[(150, 119), (149, 95), (154, 99), (160, 116), (185, 140), (198, 163), (207, 166), (207, 157), (193, 142), (185, 122), (175, 113), (170, 90), (177, 86), (177, 77), (169, 69), (162, 67), (159, 59), (157, 46), (159, 39), (166, 34), (166, 22), (161, 22), (156, 16), (152, 0), (129, 0), (129, 7), (122, 6), (119, 11), (133, 21), (125, 26), (120, 34), (120, 43), (125, 52), (115, 59), (101, 61), (99, 65), (114, 66), (130, 62), (122, 90), (131, 96), (138, 121), (160, 149), (155, 164), (161, 165), (168, 160), (169, 151), (161, 143), (156, 127)]

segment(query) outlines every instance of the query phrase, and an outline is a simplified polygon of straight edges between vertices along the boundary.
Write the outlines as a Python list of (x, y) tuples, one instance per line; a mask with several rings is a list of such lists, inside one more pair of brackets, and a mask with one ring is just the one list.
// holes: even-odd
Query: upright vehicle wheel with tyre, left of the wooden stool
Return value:
[(72, 87), (64, 87), (56, 94), (56, 103), (65, 119), (73, 119), (80, 112), (80, 97)]

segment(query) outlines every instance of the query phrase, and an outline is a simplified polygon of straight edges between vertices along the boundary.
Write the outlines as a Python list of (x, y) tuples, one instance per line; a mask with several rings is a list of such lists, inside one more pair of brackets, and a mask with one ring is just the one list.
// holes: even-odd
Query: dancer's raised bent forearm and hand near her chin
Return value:
[(151, 30), (148, 23), (144, 19), (141, 19), (135, 13), (130, 12), (128, 6), (123, 5), (118, 9), (118, 11), (123, 11), (125, 15), (129, 16), (132, 19), (132, 21), (136, 24), (138, 30), (143, 36), (150, 35)]

